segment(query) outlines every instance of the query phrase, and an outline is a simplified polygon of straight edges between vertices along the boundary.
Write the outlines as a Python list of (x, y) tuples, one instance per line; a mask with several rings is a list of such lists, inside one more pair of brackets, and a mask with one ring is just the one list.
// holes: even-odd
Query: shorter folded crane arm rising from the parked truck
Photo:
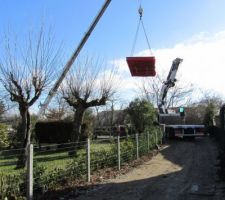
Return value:
[(165, 108), (165, 98), (166, 98), (168, 90), (171, 87), (175, 86), (177, 70), (178, 70), (178, 67), (179, 67), (179, 65), (182, 61), (183, 61), (183, 59), (181, 59), (181, 58), (176, 58), (175, 60), (173, 60), (173, 63), (172, 63), (172, 66), (170, 68), (167, 79), (163, 83), (163, 86), (162, 86), (162, 89), (161, 89), (161, 92), (160, 92), (160, 96), (159, 96), (160, 102), (159, 102), (159, 105), (158, 105), (160, 114), (167, 114), (167, 109)]

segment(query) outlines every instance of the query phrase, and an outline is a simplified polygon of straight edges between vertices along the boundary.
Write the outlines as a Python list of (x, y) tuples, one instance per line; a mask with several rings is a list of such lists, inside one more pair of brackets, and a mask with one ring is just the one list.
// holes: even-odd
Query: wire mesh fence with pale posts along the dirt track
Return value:
[[(117, 167), (148, 154), (161, 143), (162, 134), (151, 133), (94, 139), (79, 143), (34, 146), (32, 185), (28, 169), (17, 169), (19, 156), (25, 149), (0, 151), (0, 199), (27, 196), (32, 187), (38, 198), (70, 181), (90, 181), (91, 174), (104, 168)], [(28, 197), (29, 198), (29, 197)]]

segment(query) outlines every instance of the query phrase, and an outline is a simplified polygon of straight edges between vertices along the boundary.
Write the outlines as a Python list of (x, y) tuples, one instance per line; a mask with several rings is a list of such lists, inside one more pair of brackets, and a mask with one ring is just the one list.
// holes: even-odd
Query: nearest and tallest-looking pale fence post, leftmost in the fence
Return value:
[(33, 199), (33, 144), (28, 146), (27, 160), (27, 199)]

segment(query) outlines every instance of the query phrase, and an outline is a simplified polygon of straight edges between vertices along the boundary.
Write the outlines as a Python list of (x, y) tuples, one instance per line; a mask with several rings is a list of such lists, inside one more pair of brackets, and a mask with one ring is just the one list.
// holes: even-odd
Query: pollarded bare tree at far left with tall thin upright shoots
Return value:
[[(53, 38), (43, 26), (37, 35), (28, 34), (19, 43), (16, 39), (4, 38), (4, 54), (0, 61), (0, 81), (10, 100), (18, 105), (21, 116), (23, 147), (30, 144), (30, 107), (41, 96), (54, 78), (58, 66), (58, 50)], [(27, 149), (27, 148), (26, 148)], [(26, 161), (23, 157), (23, 164)]]

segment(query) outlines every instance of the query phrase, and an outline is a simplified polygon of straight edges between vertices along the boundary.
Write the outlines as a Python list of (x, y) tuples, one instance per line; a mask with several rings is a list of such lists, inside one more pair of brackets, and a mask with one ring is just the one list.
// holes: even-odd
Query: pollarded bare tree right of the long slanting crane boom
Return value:
[(114, 70), (104, 70), (89, 57), (77, 62), (62, 87), (64, 99), (74, 109), (72, 141), (79, 141), (86, 109), (105, 105), (116, 91), (115, 83)]

